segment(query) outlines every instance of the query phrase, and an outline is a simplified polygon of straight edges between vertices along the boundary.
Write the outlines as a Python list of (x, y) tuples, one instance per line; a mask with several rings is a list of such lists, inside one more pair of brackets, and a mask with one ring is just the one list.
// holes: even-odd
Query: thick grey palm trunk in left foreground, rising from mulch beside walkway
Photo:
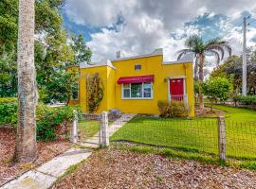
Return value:
[(29, 163), (37, 158), (34, 17), (34, 0), (19, 0), (18, 126), (14, 154), (17, 163)]

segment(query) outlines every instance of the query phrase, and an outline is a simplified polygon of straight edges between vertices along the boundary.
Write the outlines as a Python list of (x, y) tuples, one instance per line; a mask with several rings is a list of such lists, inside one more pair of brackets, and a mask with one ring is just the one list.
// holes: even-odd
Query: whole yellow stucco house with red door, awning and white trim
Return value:
[[(119, 54), (117, 54), (119, 55)], [(108, 60), (105, 64), (80, 65), (78, 99), (70, 104), (86, 106), (86, 76), (99, 73), (104, 96), (98, 112), (119, 109), (121, 112), (159, 114), (159, 100), (184, 100), (194, 116), (192, 58), (163, 61), (162, 49), (130, 58)]]

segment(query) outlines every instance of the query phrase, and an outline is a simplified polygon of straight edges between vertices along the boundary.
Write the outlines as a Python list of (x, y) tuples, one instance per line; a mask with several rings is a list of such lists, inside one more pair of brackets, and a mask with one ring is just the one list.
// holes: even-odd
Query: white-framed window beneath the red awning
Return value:
[(131, 83), (122, 85), (122, 98), (139, 99), (153, 97), (152, 83)]

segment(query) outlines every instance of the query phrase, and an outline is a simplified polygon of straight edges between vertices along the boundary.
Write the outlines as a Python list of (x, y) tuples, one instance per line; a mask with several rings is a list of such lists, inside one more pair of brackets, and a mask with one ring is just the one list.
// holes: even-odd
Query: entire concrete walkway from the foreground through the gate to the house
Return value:
[[(109, 127), (109, 136), (112, 136), (125, 123), (136, 114), (122, 114), (122, 116)], [(99, 147), (99, 133), (88, 139), (82, 146)], [(16, 180), (11, 180), (0, 189), (47, 189), (72, 165), (81, 163), (91, 155), (90, 149), (70, 148), (63, 154), (53, 158), (43, 165), (27, 171)]]

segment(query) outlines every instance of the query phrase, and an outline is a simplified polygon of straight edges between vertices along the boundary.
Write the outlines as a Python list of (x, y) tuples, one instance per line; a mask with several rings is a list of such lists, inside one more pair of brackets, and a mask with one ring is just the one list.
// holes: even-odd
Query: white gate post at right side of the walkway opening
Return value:
[(100, 143), (101, 146), (109, 146), (109, 132), (108, 132), (108, 116), (107, 112), (101, 113), (101, 131), (100, 131)]

